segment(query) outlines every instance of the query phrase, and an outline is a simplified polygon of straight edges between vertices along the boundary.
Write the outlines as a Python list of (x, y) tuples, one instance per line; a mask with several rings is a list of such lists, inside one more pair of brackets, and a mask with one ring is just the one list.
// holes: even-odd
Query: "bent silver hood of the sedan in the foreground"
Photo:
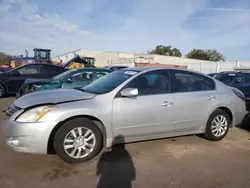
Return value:
[(76, 89), (57, 89), (34, 92), (18, 98), (14, 104), (20, 108), (28, 108), (41, 104), (58, 104), (77, 100), (87, 100), (95, 97), (95, 94), (85, 93)]

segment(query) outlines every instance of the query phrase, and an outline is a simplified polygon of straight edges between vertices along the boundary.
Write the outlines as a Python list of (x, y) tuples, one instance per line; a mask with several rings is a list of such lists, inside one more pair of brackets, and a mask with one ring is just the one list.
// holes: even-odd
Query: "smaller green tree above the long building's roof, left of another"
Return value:
[(172, 46), (157, 45), (154, 50), (149, 51), (148, 53), (181, 57), (181, 51), (177, 48), (172, 49)]

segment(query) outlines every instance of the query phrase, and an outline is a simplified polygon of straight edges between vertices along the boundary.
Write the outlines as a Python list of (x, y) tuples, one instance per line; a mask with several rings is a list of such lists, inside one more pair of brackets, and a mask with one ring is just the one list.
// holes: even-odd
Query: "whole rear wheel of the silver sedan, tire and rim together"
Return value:
[(215, 110), (207, 121), (204, 136), (211, 141), (222, 140), (228, 133), (230, 122), (231, 119), (224, 110)]

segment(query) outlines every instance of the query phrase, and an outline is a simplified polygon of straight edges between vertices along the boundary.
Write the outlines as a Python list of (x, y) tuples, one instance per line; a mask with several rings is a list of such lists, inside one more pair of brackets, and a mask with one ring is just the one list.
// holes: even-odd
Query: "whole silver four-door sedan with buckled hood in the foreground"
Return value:
[(79, 163), (122, 141), (188, 134), (218, 141), (245, 115), (242, 92), (209, 76), (135, 67), (81, 89), (25, 95), (6, 110), (4, 132), (15, 151), (55, 151), (64, 161)]

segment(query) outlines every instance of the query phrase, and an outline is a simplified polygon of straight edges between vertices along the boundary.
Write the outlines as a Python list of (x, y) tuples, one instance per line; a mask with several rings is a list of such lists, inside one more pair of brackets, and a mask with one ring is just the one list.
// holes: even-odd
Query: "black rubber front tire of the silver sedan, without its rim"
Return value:
[[(74, 128), (76, 127), (86, 127), (90, 129), (96, 138), (96, 144), (93, 149), (93, 151), (86, 157), (81, 159), (75, 159), (70, 157), (65, 151), (64, 151), (64, 138), (65, 136)], [(101, 133), (101, 130), (98, 128), (98, 126), (91, 120), (87, 118), (74, 118), (66, 123), (64, 123), (56, 132), (55, 138), (54, 138), (54, 148), (57, 153), (57, 155), (64, 160), (67, 163), (76, 164), (76, 163), (82, 163), (86, 162), (92, 158), (94, 158), (102, 149), (103, 146), (103, 136)]]

